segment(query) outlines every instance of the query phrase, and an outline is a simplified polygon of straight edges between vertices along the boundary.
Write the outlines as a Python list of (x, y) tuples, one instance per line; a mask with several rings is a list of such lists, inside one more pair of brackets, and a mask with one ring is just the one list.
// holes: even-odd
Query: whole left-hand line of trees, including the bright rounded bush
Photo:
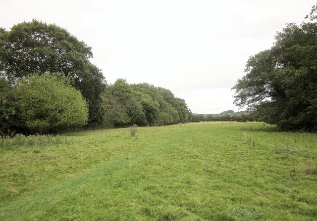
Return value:
[(91, 57), (91, 47), (54, 24), (0, 28), (0, 135), (191, 120), (168, 89), (124, 79), (108, 85)]

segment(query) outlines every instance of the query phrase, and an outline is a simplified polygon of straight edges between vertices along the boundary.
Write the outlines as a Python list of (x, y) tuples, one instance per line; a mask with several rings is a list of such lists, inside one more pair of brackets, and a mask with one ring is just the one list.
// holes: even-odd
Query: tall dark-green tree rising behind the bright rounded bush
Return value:
[(63, 73), (88, 101), (89, 123), (102, 124), (104, 76), (91, 57), (91, 47), (53, 24), (33, 20), (0, 28), (0, 76), (14, 85), (34, 72)]

